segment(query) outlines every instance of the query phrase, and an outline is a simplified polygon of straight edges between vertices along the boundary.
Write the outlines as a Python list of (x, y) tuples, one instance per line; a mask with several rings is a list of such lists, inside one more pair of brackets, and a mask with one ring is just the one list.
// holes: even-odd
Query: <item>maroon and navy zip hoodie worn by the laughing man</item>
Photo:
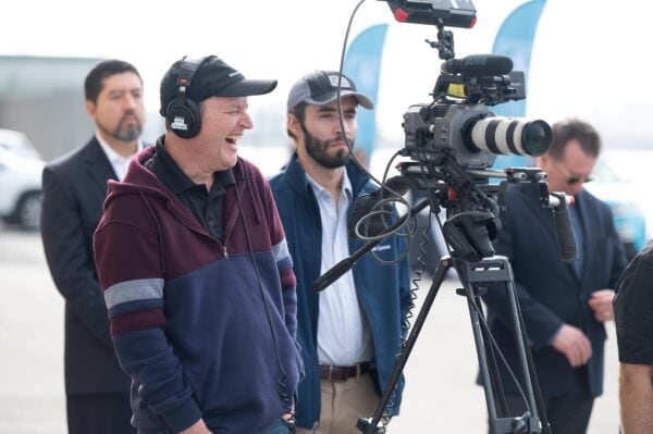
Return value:
[(238, 159), (212, 238), (144, 163), (109, 182), (94, 244), (133, 424), (268, 433), (303, 371), (292, 259), (270, 187)]

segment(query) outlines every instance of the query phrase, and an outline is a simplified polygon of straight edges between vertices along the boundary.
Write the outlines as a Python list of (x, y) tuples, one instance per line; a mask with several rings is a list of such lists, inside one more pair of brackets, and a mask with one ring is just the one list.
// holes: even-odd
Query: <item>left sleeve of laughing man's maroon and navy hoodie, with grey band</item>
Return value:
[(163, 271), (156, 230), (120, 215), (150, 215), (136, 200), (113, 200), (96, 231), (95, 255), (111, 336), (123, 370), (139, 397), (175, 432), (201, 418), (180, 360), (164, 333)]

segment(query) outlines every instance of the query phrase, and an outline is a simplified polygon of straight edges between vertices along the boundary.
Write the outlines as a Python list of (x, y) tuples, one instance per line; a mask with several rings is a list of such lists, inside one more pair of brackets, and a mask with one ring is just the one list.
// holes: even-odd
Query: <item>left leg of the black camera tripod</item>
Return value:
[(444, 282), (446, 273), (448, 272), (451, 266), (452, 266), (451, 258), (444, 257), (444, 258), (440, 259), (440, 263), (438, 264), (438, 268), (435, 269), (435, 274), (433, 275), (433, 282), (431, 283), (429, 293), (427, 294), (427, 297), (424, 298), (424, 301), (419, 311), (419, 314), (417, 315), (415, 323), (412, 324), (412, 327), (410, 328), (408, 338), (402, 345), (402, 350), (401, 350), (401, 352), (397, 357), (397, 360), (394, 364), (394, 368), (390, 375), (387, 385), (385, 386), (385, 389), (383, 390), (381, 400), (380, 400), (379, 405), (377, 406), (374, 416), (372, 417), (371, 421), (367, 420), (367, 419), (362, 419), (362, 418), (358, 419), (358, 423), (356, 424), (356, 427), (359, 431), (364, 432), (365, 434), (385, 433), (385, 426), (383, 425), (383, 426), (379, 427), (378, 426), (379, 422), (381, 421), (381, 418), (383, 418), (383, 413), (386, 411), (387, 402), (390, 401), (390, 399), (392, 398), (392, 396), (394, 394), (394, 389), (397, 385), (397, 382), (399, 381), (399, 377), (402, 376), (402, 372), (404, 371), (404, 367), (406, 365), (406, 362), (408, 361), (410, 351), (412, 351), (412, 347), (415, 346), (417, 337), (419, 336), (419, 333), (421, 332), (421, 328), (424, 324), (424, 320), (427, 319), (427, 315), (429, 314), (429, 310), (431, 310), (431, 306), (433, 305), (433, 301), (435, 300), (435, 296), (438, 295), (438, 292), (440, 290), (440, 287), (442, 286), (442, 282)]

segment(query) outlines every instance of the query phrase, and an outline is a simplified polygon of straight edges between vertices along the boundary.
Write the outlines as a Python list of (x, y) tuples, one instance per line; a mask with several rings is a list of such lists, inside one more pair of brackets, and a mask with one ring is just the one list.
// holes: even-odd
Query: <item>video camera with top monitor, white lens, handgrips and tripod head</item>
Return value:
[[(551, 147), (551, 126), (542, 120), (496, 116), (489, 107), (526, 98), (525, 74), (513, 71), (505, 55), (476, 54), (454, 58), (454, 35), (445, 26), (472, 27), (476, 9), (470, 0), (382, 0), (395, 18), (405, 23), (432, 24), (438, 27), (438, 48), (443, 60), (432, 91), (431, 103), (417, 103), (404, 113), (405, 147), (399, 154), (412, 162), (398, 165), (402, 176), (389, 182), (399, 191), (436, 191), (430, 195), (431, 208), (445, 208), (448, 221), (443, 225), (445, 240), (453, 255), (480, 260), (494, 255), (490, 241), (500, 231), (498, 213), (505, 207), (505, 190), (512, 183), (540, 185), (542, 206), (554, 208), (556, 225), (563, 235), (560, 251), (565, 259), (576, 256), (569, 247), (568, 212), (564, 197), (551, 196), (547, 175), (533, 168), (489, 170), (497, 154), (538, 157)], [(489, 178), (505, 178), (501, 186)], [(453, 193), (453, 199), (452, 199)], [(381, 222), (389, 215), (387, 204), (380, 210), (380, 189), (357, 208), (358, 226), (353, 235), (384, 233)], [(375, 209), (373, 207), (377, 207)], [(370, 214), (369, 210), (372, 209)], [(367, 214), (367, 218), (361, 214)], [(557, 223), (562, 218), (562, 223)], [(355, 219), (356, 220), (356, 219)]]

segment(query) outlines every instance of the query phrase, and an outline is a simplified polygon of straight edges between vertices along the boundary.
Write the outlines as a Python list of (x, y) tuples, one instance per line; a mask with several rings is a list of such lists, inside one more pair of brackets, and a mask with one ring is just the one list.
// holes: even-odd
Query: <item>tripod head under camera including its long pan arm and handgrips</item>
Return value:
[[(396, 233), (408, 223), (409, 218), (430, 207), (431, 212), (446, 209), (447, 220), (442, 226), (451, 255), (470, 262), (494, 255), (491, 241), (501, 232), (501, 210), (505, 209), (506, 191), (510, 184), (535, 184), (540, 204), (553, 210), (558, 251), (565, 262), (578, 258), (576, 237), (569, 215), (574, 198), (564, 193), (550, 193), (547, 175), (539, 168), (507, 168), (496, 170), (470, 170), (463, 168), (452, 153), (440, 153), (438, 164), (404, 161), (397, 165), (401, 175), (394, 176), (371, 195), (359, 198), (349, 224), (349, 235), (369, 241), (322, 274), (312, 284), (321, 292), (340, 278), (354, 264), (385, 237)], [(503, 178), (498, 185), (489, 184), (491, 177)], [(391, 221), (394, 215), (389, 204), (403, 201), (396, 195), (407, 191), (427, 191), (427, 201), (416, 204), (406, 215)]]

